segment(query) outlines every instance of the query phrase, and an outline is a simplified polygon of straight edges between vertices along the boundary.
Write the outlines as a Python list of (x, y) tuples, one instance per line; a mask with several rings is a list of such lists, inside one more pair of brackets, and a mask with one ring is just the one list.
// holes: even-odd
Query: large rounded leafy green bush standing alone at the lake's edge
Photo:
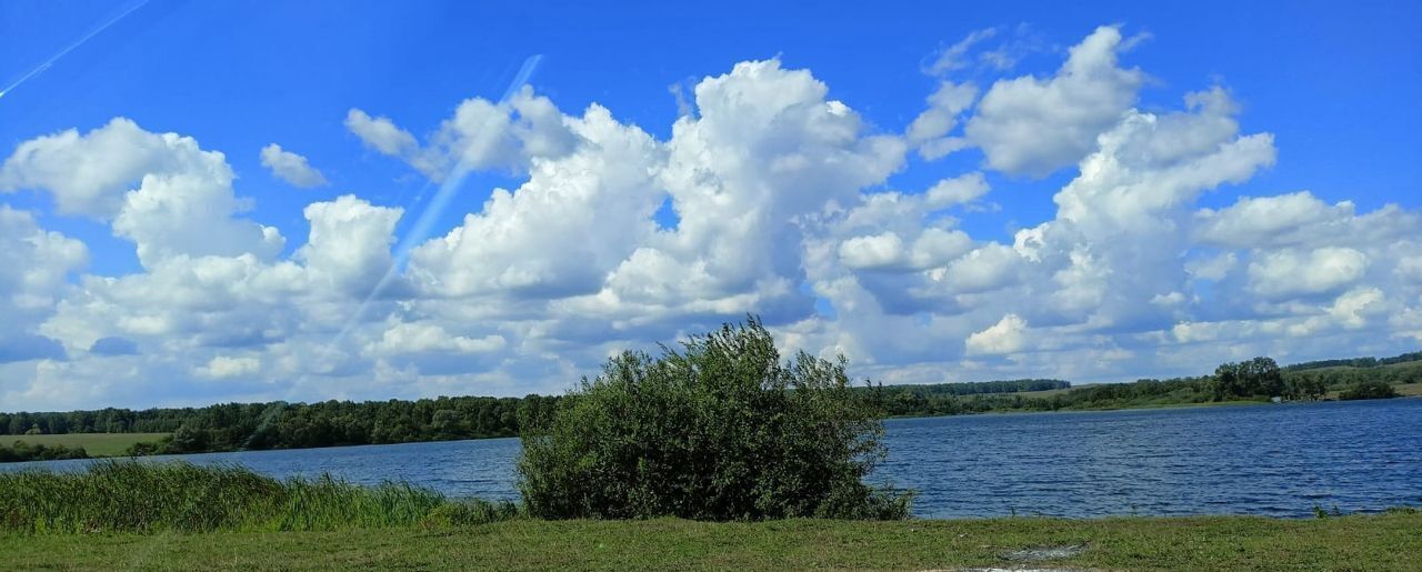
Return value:
[(629, 351), (523, 430), (519, 491), (542, 518), (904, 518), (863, 478), (882, 413), (845, 361), (788, 363), (759, 320)]

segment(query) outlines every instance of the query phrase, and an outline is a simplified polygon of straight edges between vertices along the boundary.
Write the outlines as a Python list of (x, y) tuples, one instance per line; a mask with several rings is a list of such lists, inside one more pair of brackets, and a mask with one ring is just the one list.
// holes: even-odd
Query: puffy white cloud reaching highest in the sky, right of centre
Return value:
[(1047, 175), (1092, 151), (1096, 135), (1115, 125), (1145, 81), (1139, 70), (1116, 67), (1121, 30), (1099, 27), (1057, 75), (1001, 80), (983, 95), (967, 138), (987, 165), (1008, 174)]

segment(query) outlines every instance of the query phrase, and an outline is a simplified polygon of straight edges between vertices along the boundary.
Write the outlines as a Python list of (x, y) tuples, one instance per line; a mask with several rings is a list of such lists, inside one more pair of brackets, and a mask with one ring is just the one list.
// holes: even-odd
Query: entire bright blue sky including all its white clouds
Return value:
[(0, 3), (0, 410), (1422, 346), (1422, 6)]

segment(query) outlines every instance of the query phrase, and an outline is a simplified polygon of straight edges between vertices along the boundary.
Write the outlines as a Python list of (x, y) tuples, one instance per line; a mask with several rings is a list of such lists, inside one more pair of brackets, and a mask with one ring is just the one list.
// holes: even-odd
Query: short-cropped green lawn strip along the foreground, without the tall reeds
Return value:
[(337, 532), (0, 536), (7, 569), (1422, 569), (1422, 514), (964, 521), (509, 521)]

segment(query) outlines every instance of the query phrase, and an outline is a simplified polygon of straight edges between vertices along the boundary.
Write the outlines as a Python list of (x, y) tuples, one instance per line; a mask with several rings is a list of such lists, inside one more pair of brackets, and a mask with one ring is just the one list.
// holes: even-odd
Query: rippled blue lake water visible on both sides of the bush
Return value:
[[(1422, 398), (886, 421), (875, 481), (919, 491), (919, 517), (1372, 512), (1422, 502)], [(516, 438), (179, 458), (286, 477), (407, 480), (518, 497)], [(166, 457), (149, 457), (164, 460)], [(0, 464), (75, 470), (90, 461)]]

